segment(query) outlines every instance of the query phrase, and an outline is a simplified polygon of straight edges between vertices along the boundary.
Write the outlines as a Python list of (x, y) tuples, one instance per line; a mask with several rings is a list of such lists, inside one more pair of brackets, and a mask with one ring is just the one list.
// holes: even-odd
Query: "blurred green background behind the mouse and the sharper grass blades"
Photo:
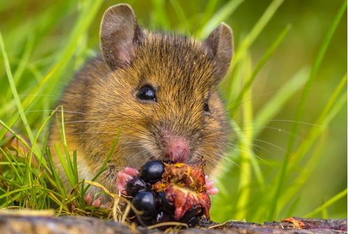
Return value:
[[(240, 60), (233, 65), (234, 72), (225, 80), (227, 83), (229, 79), (233, 80), (235, 86), (243, 83), (243, 72), (252, 72), (275, 38), (288, 24), (291, 25), (284, 40), (257, 72), (251, 88), (247, 88), (242, 99), (246, 101), (239, 104), (237, 114), (231, 114), (232, 119), (242, 128), (243, 134), (259, 131), (259, 134), (251, 137), (249, 148), (253, 152), (252, 157), (256, 155), (263, 181), (256, 182), (257, 172), (250, 172), (250, 163), (246, 166), (248, 171), (243, 171), (245, 167), (241, 166), (241, 151), (229, 150), (227, 157), (235, 164), (227, 160), (228, 166), (222, 166), (226, 170), (221, 169), (218, 173), (218, 178), (221, 178), (218, 183), (221, 193), (213, 199), (213, 219), (225, 221), (245, 218), (248, 221), (265, 221), (288, 215), (301, 217), (347, 188), (347, 103), (333, 116), (328, 126), (315, 125), (321, 111), (333, 97), (335, 88), (347, 72), (346, 11), (314, 77), (301, 119), (297, 122), (298, 131), (292, 130), (296, 109), (301, 102), (302, 87), (305, 86), (305, 80), (308, 79), (312, 65), (318, 57), (321, 43), (343, 1), (123, 2), (130, 3), (140, 24), (146, 29), (189, 33), (204, 38), (220, 20), (223, 20), (232, 26), (236, 50), (243, 46), (243, 42), (248, 41), (250, 32), (255, 27), (261, 29), (256, 33), (255, 40), (250, 42), (250, 46), (241, 50)], [(0, 0), (0, 30), (19, 98), (24, 100), (30, 97), (29, 95), (35, 96), (35, 100), (26, 111), (33, 132), (38, 130), (38, 126), (54, 108), (62, 88), (72, 79), (74, 72), (86, 59), (98, 54), (100, 19), (104, 10), (116, 3), (120, 1), (106, 0), (99, 3), (68, 0)], [(270, 6), (273, 6), (274, 14), (267, 11)], [(268, 15), (269, 19), (261, 27), (259, 19), (262, 19), (262, 15)], [(0, 57), (0, 64), (0, 119), (8, 123), (16, 112), (16, 104), (8, 85), (3, 56)], [(40, 91), (33, 91), (54, 67), (56, 70), (52, 77), (39, 86)], [(295, 84), (296, 90), (281, 104), (281, 108), (275, 111), (266, 125), (260, 129), (251, 125), (248, 129), (248, 125), (243, 122), (243, 105), (246, 102), (252, 103), (248, 108), (252, 109), (252, 116), (257, 116), (299, 70), (303, 77), (298, 79), (301, 85), (297, 87)], [(233, 104), (230, 100), (236, 100), (233, 91), (239, 92), (240, 89), (221, 87), (227, 105)], [(343, 90), (347, 90), (347, 84)], [(347, 93), (343, 95), (347, 100)], [(246, 97), (248, 100), (244, 99)], [(313, 128), (324, 130), (315, 143), (310, 145), (310, 150), (287, 171), (280, 189), (280, 200), (282, 195), (287, 193), (287, 189), (298, 185), (295, 186), (296, 192), (289, 199), (285, 199), (286, 202), (280, 202), (281, 205), (278, 203), (278, 208), (270, 214), (268, 210), (272, 210), (270, 207), (274, 206), (272, 200), (276, 192), (273, 190), (277, 185), (289, 138), (295, 134), (295, 150), (308, 139), (308, 134)], [(20, 121), (15, 124), (14, 129), (20, 134), (26, 134)], [(44, 141), (45, 136), (43, 134), (40, 140)], [(243, 148), (238, 137), (234, 143), (236, 148)], [(310, 159), (314, 162), (308, 163)], [(292, 157), (289, 160), (291, 162)], [(303, 171), (308, 171), (308, 175), (296, 179)], [(240, 187), (243, 175), (249, 175), (247, 192), (243, 190), (245, 187)], [(347, 217), (346, 194), (347, 191), (338, 201), (314, 216)], [(243, 206), (239, 207), (241, 203)]]

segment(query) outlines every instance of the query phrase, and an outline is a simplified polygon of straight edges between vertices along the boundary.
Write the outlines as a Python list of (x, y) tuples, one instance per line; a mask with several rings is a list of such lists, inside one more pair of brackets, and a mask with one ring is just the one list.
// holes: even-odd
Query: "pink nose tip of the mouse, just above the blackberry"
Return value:
[(169, 139), (167, 143), (167, 157), (172, 162), (185, 162), (188, 158), (190, 150), (188, 149), (188, 141), (182, 137)]

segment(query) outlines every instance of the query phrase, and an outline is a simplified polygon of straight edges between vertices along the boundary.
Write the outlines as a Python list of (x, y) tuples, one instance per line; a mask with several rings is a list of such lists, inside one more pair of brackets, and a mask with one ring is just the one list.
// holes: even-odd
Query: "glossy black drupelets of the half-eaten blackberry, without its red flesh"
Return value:
[(135, 208), (143, 212), (138, 219), (134, 216), (134, 221), (145, 225), (179, 221), (190, 227), (196, 226), (203, 215), (202, 209), (193, 206), (180, 220), (176, 220), (175, 206), (168, 201), (165, 192), (156, 192), (152, 189), (152, 185), (161, 180), (164, 171), (165, 165), (162, 162), (150, 161), (142, 167), (138, 177), (128, 182), (127, 195), (131, 197)]

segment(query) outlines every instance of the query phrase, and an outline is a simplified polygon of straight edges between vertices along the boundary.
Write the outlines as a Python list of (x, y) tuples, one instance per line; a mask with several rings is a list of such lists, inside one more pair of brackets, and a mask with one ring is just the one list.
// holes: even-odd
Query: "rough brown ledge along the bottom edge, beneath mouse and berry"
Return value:
[[(202, 219), (202, 228), (179, 229), (175, 233), (347, 233), (347, 219), (288, 218), (281, 222), (255, 224), (227, 221), (217, 224)], [(0, 233), (164, 233), (158, 229), (136, 227), (92, 217), (56, 217), (43, 212), (0, 212)]]

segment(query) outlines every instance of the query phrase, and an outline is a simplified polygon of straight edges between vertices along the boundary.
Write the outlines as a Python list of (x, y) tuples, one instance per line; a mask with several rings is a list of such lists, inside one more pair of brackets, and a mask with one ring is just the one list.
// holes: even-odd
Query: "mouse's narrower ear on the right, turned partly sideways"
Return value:
[(215, 75), (217, 82), (225, 77), (234, 54), (233, 32), (225, 23), (221, 23), (204, 40), (203, 44), (213, 56), (215, 61)]

